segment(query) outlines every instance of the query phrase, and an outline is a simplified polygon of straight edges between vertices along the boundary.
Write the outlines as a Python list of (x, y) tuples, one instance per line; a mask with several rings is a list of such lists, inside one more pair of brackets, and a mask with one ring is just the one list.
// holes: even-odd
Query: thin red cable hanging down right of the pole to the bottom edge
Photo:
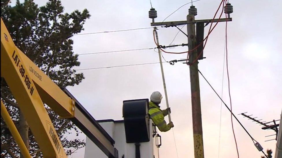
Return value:
[[(225, 1), (225, 6), (226, 6), (226, 1)], [(225, 17), (227, 18), (227, 14), (225, 13)], [(227, 69), (227, 78), (228, 78), (228, 92), (229, 92), (229, 99), (230, 99), (230, 110), (231, 110), (231, 125), (232, 125), (232, 131), (233, 131), (233, 136), (236, 144), (236, 150), (237, 150), (237, 155), (239, 158), (239, 151), (238, 151), (238, 146), (237, 146), (237, 141), (235, 137), (235, 132), (234, 132), (234, 127), (233, 127), (233, 120), (232, 120), (232, 104), (231, 104), (231, 94), (230, 94), (230, 80), (229, 80), (229, 72), (228, 72), (228, 58), (227, 58), (227, 21), (225, 23), (225, 41), (226, 41), (226, 69)]]

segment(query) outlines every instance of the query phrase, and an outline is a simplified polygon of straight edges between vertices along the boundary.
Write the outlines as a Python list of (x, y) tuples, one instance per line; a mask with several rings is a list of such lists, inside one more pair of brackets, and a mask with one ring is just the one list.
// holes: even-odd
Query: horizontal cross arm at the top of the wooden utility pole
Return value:
[[(214, 19), (214, 22), (226, 22), (226, 21), (232, 21), (232, 18), (221, 18), (221, 19)], [(191, 24), (191, 23), (197, 23), (197, 22), (204, 22), (204, 23), (210, 23), (212, 22), (212, 19), (203, 19), (203, 20), (195, 20), (194, 22), (187, 22), (185, 21), (168, 21), (168, 22), (152, 22), (151, 26), (164, 26), (164, 27), (173, 27), (178, 25), (185, 25), (185, 24)]]

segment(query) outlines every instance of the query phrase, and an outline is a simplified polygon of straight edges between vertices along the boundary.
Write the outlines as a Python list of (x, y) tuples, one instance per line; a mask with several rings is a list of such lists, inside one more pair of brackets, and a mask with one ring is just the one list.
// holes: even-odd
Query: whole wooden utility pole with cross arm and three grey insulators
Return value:
[[(189, 69), (195, 158), (204, 158), (201, 99), (198, 75), (198, 60), (203, 59), (203, 57), (200, 55), (201, 51), (203, 50), (203, 37), (201, 36), (203, 36), (204, 24), (207, 25), (211, 22), (232, 21), (232, 18), (230, 18), (229, 14), (233, 12), (233, 6), (230, 3), (225, 5), (224, 12), (225, 14), (228, 14), (228, 18), (195, 20), (197, 9), (192, 5), (189, 9), (187, 19), (184, 21), (155, 22), (154, 19), (157, 18), (157, 11), (154, 8), (151, 8), (149, 11), (149, 18), (152, 19), (151, 26), (177, 27), (179, 25), (187, 24), (188, 50), (190, 52), (188, 63), (190, 65)], [(197, 24), (197, 33), (195, 33), (195, 24)], [(197, 49), (193, 50), (196, 47), (196, 43), (199, 46), (197, 46)], [(159, 42), (157, 42), (157, 45), (159, 46)]]

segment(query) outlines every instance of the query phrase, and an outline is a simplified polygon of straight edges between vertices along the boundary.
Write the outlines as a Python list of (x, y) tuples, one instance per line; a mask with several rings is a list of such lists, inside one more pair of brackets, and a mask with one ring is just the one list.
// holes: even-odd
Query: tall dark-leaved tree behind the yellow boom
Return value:
[[(74, 34), (80, 33), (86, 19), (90, 18), (87, 9), (64, 13), (59, 0), (49, 0), (38, 7), (33, 0), (1, 0), (1, 18), (3, 19), (16, 46), (23, 51), (41, 70), (46, 73), (62, 90), (66, 86), (81, 83), (83, 73), (77, 73), (73, 67), (79, 66), (78, 55), (73, 52)], [(12, 120), (17, 126), (29, 152), (33, 157), (42, 157), (34, 136), (29, 130), (16, 100), (13, 98), (5, 80), (1, 78), (1, 99)], [(66, 134), (78, 128), (69, 119), (59, 119), (47, 105), (47, 112), (53, 122), (67, 155), (85, 146), (84, 140), (68, 140)], [(1, 157), (18, 157), (20, 150), (13, 140), (8, 127), (1, 117)], [(21, 155), (22, 156), (22, 155)]]

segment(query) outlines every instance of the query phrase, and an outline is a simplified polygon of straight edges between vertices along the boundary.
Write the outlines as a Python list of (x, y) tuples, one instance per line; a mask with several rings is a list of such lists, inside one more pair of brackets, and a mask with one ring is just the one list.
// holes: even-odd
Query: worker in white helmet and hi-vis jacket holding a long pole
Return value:
[(170, 113), (170, 108), (166, 108), (165, 110), (160, 109), (159, 104), (162, 101), (162, 94), (158, 91), (153, 92), (151, 94), (150, 100), (149, 115), (159, 130), (161, 132), (166, 132), (170, 130), (170, 128), (174, 127), (172, 122), (166, 124), (166, 121), (164, 120), (164, 117)]

